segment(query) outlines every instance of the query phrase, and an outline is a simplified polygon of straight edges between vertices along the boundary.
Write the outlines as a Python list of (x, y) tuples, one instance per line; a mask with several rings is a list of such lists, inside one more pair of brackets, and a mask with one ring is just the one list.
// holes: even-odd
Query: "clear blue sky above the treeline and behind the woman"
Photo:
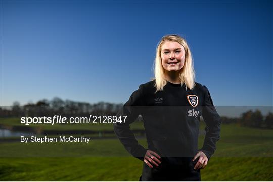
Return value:
[(216, 106), (272, 106), (272, 1), (1, 1), (1, 106), (124, 103), (180, 34)]

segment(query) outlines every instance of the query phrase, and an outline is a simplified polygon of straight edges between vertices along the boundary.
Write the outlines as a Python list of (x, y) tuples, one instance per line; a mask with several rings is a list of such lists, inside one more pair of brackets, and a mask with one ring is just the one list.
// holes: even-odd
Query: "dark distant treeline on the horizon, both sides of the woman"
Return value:
[[(62, 100), (58, 97), (52, 100), (40, 100), (37, 103), (28, 103), (21, 106), (19, 102), (14, 102), (11, 108), (0, 108), (0, 117), (43, 117), (43, 116), (88, 116), (88, 115), (116, 115), (123, 104), (99, 102), (90, 104), (86, 102), (75, 102)], [(141, 120), (141, 119), (139, 119)], [(222, 117), (225, 124), (238, 123), (240, 126), (273, 128), (273, 113), (266, 116), (260, 110), (249, 110), (241, 114), (240, 117)]]

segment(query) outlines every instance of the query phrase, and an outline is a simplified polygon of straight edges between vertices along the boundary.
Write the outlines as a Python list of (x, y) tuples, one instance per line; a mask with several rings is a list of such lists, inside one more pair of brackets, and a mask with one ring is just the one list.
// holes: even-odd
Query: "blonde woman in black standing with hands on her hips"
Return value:
[[(219, 140), (221, 118), (205, 86), (195, 82), (191, 51), (179, 35), (166, 35), (157, 45), (155, 79), (140, 85), (118, 115), (114, 131), (125, 149), (143, 161), (140, 180), (201, 181)], [(142, 115), (148, 149), (139, 145), (129, 124)], [(199, 120), (206, 136), (198, 150)]]

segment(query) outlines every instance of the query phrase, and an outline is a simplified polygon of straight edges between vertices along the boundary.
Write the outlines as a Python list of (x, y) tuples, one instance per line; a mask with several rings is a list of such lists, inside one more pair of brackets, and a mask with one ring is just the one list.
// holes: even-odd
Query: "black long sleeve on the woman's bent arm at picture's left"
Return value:
[(119, 116), (127, 116), (125, 123), (115, 123), (114, 132), (125, 149), (134, 157), (143, 160), (147, 149), (138, 143), (133, 132), (130, 130), (130, 124), (141, 114), (140, 106), (143, 105), (143, 88), (140, 85), (139, 89), (134, 91), (129, 100), (124, 104), (122, 109), (117, 114)]

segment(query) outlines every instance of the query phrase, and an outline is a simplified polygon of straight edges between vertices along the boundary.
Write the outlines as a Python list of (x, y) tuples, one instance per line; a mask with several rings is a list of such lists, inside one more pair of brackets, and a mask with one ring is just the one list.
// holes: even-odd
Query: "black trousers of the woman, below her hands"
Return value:
[(200, 169), (195, 170), (194, 166), (198, 159), (171, 157), (160, 158), (161, 164), (158, 167), (150, 168), (143, 162), (140, 181), (201, 181)]

